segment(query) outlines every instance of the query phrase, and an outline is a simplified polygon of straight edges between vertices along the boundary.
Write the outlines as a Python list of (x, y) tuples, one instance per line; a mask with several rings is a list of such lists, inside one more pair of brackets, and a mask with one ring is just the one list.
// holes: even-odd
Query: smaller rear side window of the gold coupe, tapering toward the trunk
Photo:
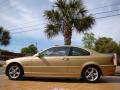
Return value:
[(71, 56), (89, 56), (90, 53), (88, 51), (84, 50), (84, 49), (77, 48), (77, 47), (72, 47), (70, 55)]

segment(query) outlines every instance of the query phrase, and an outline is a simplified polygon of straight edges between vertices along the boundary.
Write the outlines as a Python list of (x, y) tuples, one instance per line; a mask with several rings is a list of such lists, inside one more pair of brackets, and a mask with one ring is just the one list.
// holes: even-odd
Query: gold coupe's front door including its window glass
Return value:
[(68, 60), (66, 56), (69, 53), (69, 47), (52, 47), (32, 60), (33, 76), (65, 76), (68, 70)]

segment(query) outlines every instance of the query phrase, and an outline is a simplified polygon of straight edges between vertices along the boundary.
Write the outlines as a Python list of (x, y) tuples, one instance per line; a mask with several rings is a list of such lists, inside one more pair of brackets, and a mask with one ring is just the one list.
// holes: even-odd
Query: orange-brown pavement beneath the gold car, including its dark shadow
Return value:
[(0, 74), (0, 90), (120, 90), (120, 76), (104, 77), (98, 83), (86, 83), (81, 79), (60, 78), (25, 78), (13, 81), (3, 74), (2, 68)]

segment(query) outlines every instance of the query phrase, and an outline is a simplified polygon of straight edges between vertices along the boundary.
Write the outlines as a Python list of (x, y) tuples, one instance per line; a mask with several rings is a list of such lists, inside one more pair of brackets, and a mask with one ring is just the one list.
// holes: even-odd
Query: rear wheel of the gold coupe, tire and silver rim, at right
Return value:
[(100, 79), (100, 71), (97, 67), (95, 66), (88, 66), (86, 68), (83, 69), (82, 72), (82, 78), (86, 81), (86, 82), (97, 82)]

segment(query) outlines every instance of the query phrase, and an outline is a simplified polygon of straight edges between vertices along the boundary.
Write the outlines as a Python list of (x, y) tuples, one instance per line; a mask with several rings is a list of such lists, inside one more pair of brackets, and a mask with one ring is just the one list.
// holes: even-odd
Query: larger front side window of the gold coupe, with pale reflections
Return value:
[(44, 56), (67, 56), (68, 53), (68, 47), (53, 47), (43, 51), (41, 54)]

